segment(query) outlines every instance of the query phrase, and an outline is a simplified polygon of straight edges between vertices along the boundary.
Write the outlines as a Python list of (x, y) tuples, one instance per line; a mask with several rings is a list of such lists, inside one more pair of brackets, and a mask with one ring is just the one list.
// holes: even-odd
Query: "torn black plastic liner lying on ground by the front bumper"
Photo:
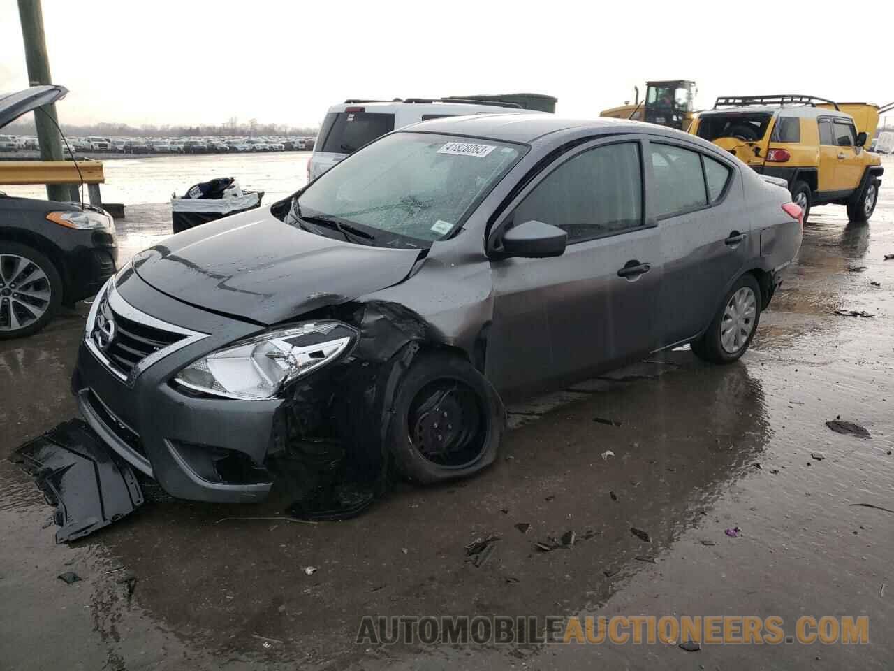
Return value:
[(117, 522), (143, 503), (131, 466), (81, 420), (63, 422), (13, 452), (54, 505), (56, 542), (80, 539)]

